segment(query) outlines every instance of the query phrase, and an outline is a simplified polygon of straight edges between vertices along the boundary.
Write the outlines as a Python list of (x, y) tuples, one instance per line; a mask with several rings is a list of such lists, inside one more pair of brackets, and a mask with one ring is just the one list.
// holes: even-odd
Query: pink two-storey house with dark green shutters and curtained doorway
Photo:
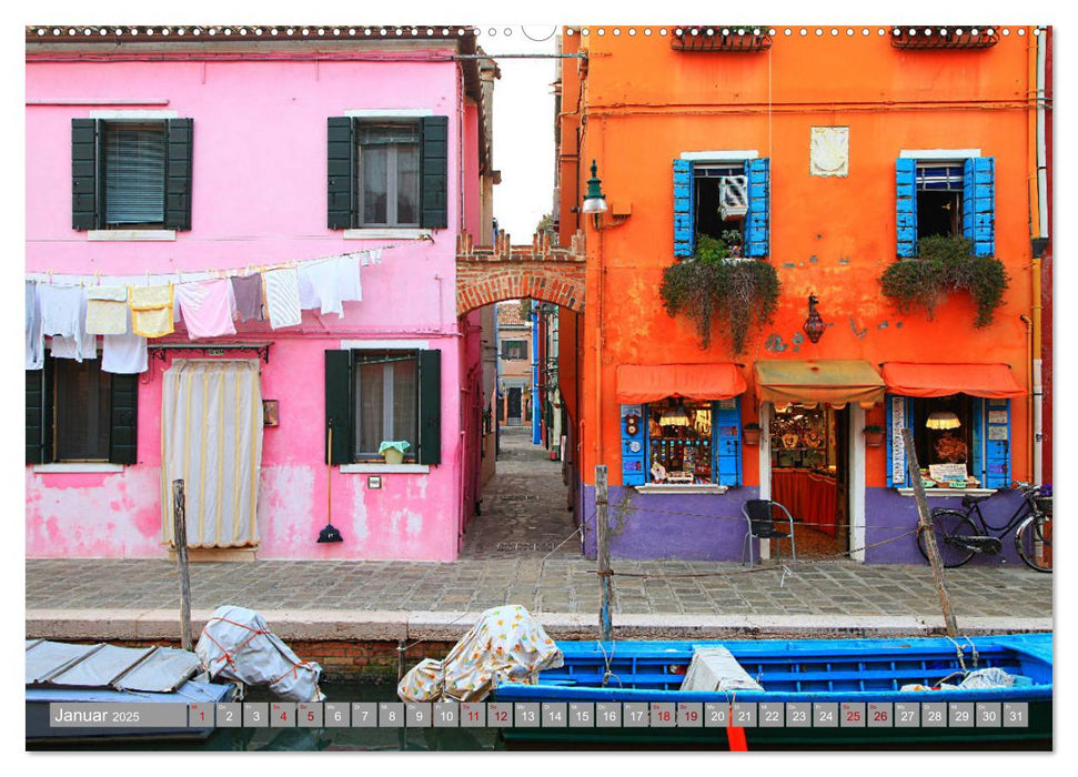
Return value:
[[(167, 557), (180, 476), (204, 556), (452, 561), (483, 411), (454, 236), (490, 234), (493, 62), (455, 28), (137, 32), (27, 28), (36, 293), (302, 282), (350, 256), (362, 301), (322, 312), (320, 287), (299, 324), (198, 340), (178, 323), (132, 374), (46, 339), (27, 370), (27, 556)], [(283, 310), (265, 291), (263, 312)], [(316, 542), (328, 519), (343, 542)]]

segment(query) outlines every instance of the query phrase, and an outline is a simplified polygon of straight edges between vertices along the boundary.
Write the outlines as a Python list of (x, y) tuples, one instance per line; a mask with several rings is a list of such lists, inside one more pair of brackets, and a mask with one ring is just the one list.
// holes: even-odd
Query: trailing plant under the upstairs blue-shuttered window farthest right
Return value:
[(974, 325), (988, 326), (1004, 302), (1009, 279), (998, 259), (971, 254), (973, 243), (966, 238), (921, 238), (916, 259), (900, 259), (884, 271), (879, 279), (884, 295), (903, 313), (923, 310), (931, 319), (947, 292), (965, 291), (977, 305)]

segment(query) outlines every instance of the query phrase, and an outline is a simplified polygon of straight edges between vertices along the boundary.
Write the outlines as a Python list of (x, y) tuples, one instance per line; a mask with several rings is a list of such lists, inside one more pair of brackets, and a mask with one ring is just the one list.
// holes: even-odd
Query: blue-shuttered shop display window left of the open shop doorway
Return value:
[(741, 485), (741, 403), (667, 397), (622, 406), (625, 485)]

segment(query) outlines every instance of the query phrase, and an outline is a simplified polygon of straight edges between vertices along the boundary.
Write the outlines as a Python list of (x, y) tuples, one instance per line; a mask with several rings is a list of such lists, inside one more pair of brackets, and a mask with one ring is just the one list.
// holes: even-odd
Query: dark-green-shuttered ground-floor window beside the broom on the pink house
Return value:
[[(441, 463), (441, 352), (325, 352), (326, 445), (333, 464), (381, 462), (383, 442), (407, 462)], [(332, 431), (332, 443), (330, 443)]]

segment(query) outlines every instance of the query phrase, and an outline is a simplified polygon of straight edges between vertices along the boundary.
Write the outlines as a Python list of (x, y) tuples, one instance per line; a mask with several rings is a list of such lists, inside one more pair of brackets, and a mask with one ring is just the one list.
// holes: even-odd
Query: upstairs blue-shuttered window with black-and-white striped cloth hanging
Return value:
[(674, 255), (693, 256), (696, 235), (738, 244), (738, 255), (767, 256), (770, 160), (674, 160)]

